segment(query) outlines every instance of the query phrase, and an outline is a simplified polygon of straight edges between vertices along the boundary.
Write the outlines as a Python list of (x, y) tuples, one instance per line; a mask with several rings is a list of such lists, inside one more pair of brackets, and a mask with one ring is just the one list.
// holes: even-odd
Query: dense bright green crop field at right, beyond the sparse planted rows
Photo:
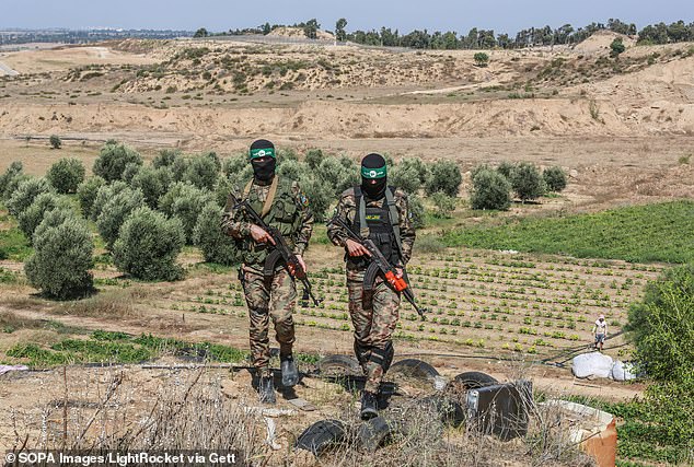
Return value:
[(634, 206), (448, 232), (449, 246), (516, 249), (633, 262), (694, 260), (694, 201)]

